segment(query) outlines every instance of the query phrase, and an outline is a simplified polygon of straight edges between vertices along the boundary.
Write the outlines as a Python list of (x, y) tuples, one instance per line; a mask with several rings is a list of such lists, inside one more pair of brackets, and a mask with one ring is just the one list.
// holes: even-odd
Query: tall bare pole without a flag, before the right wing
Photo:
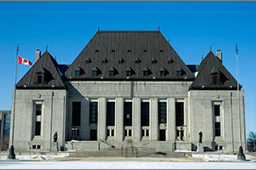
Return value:
[(238, 103), (238, 123), (239, 123), (239, 152), (237, 160), (246, 161), (246, 156), (243, 153), (241, 146), (241, 113), (240, 113), (240, 92), (239, 92), (239, 75), (238, 75), (238, 48), (236, 43), (236, 77), (237, 77), (237, 103)]

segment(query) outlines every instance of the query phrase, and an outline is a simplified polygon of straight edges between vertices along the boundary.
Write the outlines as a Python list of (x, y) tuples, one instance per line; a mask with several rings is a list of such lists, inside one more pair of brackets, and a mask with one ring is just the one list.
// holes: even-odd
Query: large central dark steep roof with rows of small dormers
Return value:
[[(90, 58), (91, 62), (86, 62)], [(123, 62), (119, 62), (119, 59)], [(102, 62), (107, 59), (108, 62)], [(139, 59), (140, 62), (136, 62)], [(154, 59), (154, 62), (151, 60)], [(168, 62), (172, 59), (173, 62)], [(84, 74), (75, 76), (75, 69), (80, 67)], [(94, 77), (93, 68), (101, 74)], [(117, 74), (109, 76), (109, 68), (114, 67)], [(79, 56), (65, 72), (67, 80), (125, 80), (125, 70), (130, 67), (134, 74), (129, 80), (194, 80), (193, 73), (183, 63), (160, 31), (97, 31)], [(147, 67), (152, 74), (143, 76), (143, 68)], [(160, 77), (160, 68), (166, 69), (165, 77)], [(176, 68), (183, 71), (177, 76)]]

